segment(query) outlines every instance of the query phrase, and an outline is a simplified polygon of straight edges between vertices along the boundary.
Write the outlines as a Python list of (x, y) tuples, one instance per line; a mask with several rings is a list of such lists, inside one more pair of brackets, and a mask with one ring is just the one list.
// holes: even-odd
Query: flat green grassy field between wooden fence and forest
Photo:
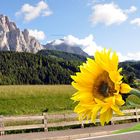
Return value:
[(22, 115), (71, 111), (75, 92), (70, 85), (0, 86), (0, 114)]

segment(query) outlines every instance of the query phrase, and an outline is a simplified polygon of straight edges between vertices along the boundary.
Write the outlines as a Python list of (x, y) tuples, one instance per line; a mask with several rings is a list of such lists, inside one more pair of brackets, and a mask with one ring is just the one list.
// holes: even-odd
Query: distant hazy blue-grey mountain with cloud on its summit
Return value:
[[(60, 39), (63, 42), (63, 39)], [(73, 53), (73, 54), (79, 54), (83, 56), (88, 56), (87, 53), (85, 53), (80, 46), (71, 46), (65, 42), (63, 43), (56, 43), (57, 40), (54, 40), (50, 43), (47, 43), (44, 45), (44, 48), (47, 50), (57, 50), (57, 51), (63, 51), (63, 52), (68, 52), (68, 53)]]

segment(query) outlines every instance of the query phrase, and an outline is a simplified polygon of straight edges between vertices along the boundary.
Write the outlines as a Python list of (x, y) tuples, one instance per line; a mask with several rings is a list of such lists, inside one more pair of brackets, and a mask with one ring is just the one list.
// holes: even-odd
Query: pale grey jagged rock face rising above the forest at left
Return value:
[(0, 50), (36, 53), (43, 49), (42, 45), (32, 36), (28, 30), (20, 31), (14, 22), (10, 22), (7, 16), (0, 15)]

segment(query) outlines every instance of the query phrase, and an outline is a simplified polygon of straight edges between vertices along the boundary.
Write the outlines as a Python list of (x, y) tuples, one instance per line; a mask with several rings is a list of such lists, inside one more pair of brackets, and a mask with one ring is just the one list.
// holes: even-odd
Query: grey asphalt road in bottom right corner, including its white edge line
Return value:
[(140, 140), (140, 131), (83, 138), (80, 140)]

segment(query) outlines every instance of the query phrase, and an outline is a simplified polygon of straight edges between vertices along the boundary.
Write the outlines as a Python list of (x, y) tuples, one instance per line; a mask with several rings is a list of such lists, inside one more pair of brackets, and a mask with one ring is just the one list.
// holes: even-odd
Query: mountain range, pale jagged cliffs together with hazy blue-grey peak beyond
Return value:
[[(63, 39), (60, 39), (63, 42)], [(0, 51), (37, 53), (42, 49), (57, 50), (88, 56), (80, 46), (67, 43), (57, 44), (57, 40), (41, 45), (35, 37), (29, 35), (27, 29), (21, 31), (14, 22), (5, 15), (0, 15)]]

